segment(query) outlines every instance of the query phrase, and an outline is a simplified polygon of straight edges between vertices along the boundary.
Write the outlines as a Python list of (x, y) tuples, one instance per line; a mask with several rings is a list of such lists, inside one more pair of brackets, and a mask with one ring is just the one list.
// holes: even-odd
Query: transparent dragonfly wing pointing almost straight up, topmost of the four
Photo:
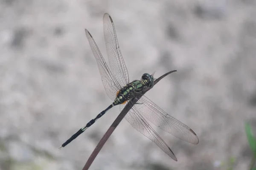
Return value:
[(113, 20), (107, 13), (103, 17), (103, 28), (111, 71), (123, 87), (129, 83), (129, 75), (117, 41)]

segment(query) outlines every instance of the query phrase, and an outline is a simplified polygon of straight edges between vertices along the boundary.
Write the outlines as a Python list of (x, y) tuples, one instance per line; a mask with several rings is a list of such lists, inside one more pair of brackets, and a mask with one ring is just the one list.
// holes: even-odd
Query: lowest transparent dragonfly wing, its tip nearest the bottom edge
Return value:
[[(120, 105), (120, 111), (122, 111), (124, 107), (125, 105)], [(136, 107), (131, 108), (131, 110), (125, 115), (125, 119), (132, 125), (132, 127), (157, 144), (157, 146), (160, 147), (161, 150), (163, 150), (173, 160), (177, 161), (177, 158), (172, 152), (171, 148), (154, 131), (148, 122), (146, 122), (143, 116), (140, 115), (140, 111), (138, 111)]]

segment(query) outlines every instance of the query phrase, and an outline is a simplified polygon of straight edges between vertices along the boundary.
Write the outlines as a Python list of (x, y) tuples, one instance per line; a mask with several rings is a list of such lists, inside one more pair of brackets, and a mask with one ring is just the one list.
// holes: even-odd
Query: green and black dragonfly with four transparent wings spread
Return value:
[(192, 144), (198, 144), (198, 136), (191, 128), (167, 114), (154, 104), (154, 102), (141, 94), (145, 88), (153, 87), (154, 74), (145, 73), (140, 80), (129, 82), (128, 70), (120, 51), (113, 20), (107, 13), (103, 16), (103, 29), (110, 68), (87, 29), (85, 29), (85, 34), (93, 55), (96, 58), (105, 91), (113, 103), (99, 113), (94, 119), (91, 119), (84, 127), (79, 129), (70, 137), (70, 139), (64, 142), (60, 148), (65, 147), (71, 141), (76, 139), (76, 137), (87, 130), (87, 128), (93, 125), (114, 106), (119, 105), (119, 109), (122, 111), (128, 102), (132, 102), (132, 99), (138, 98), (139, 100), (136, 103), (132, 103), (133, 106), (125, 115), (125, 119), (132, 125), (132, 127), (157, 144), (157, 146), (167, 155), (177, 161), (177, 158), (170, 147), (147, 121), (150, 121), (160, 129), (171, 133), (173, 136)]

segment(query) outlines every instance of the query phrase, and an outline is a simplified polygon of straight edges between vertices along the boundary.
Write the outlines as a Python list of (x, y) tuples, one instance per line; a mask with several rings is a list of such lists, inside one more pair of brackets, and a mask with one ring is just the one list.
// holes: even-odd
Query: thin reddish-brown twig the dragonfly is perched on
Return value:
[[(171, 74), (177, 70), (169, 71), (168, 73), (164, 74), (163, 76), (159, 77), (158, 79), (154, 80), (154, 85), (157, 84), (163, 77), (166, 77), (168, 74)], [(153, 87), (154, 87), (153, 85)], [(153, 88), (152, 87), (152, 88)], [(144, 95), (147, 91), (149, 91), (151, 88), (147, 88), (143, 91), (142, 95)], [(88, 170), (90, 165), (93, 163), (94, 159), (98, 155), (99, 151), (102, 149), (105, 142), (108, 140), (109, 136), (113, 133), (113, 131), (116, 129), (117, 125), (121, 122), (121, 120), (125, 117), (125, 115), (128, 113), (128, 111), (132, 108), (133, 104), (136, 103), (141, 96), (138, 96), (131, 100), (131, 102), (128, 102), (128, 104), (125, 106), (125, 108), (121, 111), (121, 113), (117, 116), (116, 120), (113, 122), (113, 124), (108, 128), (107, 132), (104, 134), (102, 139), (99, 141), (95, 149), (93, 150), (93, 153), (90, 155), (89, 159), (87, 160), (86, 164), (83, 167), (83, 170)]]

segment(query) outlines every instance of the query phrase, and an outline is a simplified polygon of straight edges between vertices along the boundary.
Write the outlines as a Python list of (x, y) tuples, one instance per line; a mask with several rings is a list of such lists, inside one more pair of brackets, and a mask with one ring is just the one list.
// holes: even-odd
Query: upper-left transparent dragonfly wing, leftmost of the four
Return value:
[(121, 89), (121, 85), (116, 81), (116, 78), (111, 73), (111, 70), (108, 68), (107, 63), (105, 62), (105, 59), (102, 57), (101, 52), (99, 51), (98, 46), (96, 45), (96, 42), (93, 40), (93, 37), (85, 29), (86, 37), (89, 41), (90, 47), (93, 51), (93, 55), (96, 58), (96, 61), (98, 63), (99, 72), (102, 77), (102, 83), (105, 88), (105, 91), (108, 95), (108, 97), (111, 100), (114, 100), (116, 98), (116, 92)]

